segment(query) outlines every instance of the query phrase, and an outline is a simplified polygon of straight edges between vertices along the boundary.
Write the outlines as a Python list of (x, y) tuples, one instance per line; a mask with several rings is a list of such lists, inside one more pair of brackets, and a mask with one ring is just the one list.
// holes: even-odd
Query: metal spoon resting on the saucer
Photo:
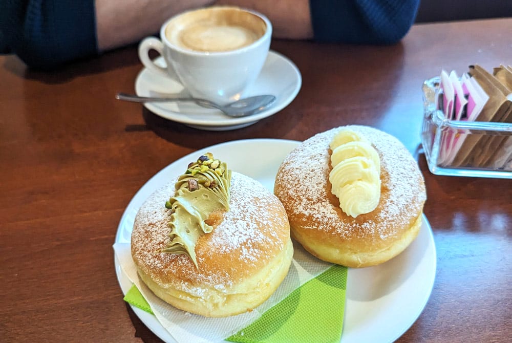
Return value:
[(245, 117), (267, 109), (275, 102), (276, 98), (273, 95), (257, 95), (240, 99), (227, 105), (219, 105), (205, 99), (145, 97), (125, 93), (117, 93), (116, 99), (133, 102), (194, 102), (206, 108), (221, 110), (230, 117)]

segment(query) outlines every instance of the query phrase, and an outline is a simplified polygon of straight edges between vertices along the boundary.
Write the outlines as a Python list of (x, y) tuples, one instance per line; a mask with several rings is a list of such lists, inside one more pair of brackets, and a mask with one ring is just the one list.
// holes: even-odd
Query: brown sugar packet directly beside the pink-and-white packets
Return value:
[[(504, 93), (507, 92), (506, 87), (480, 66), (470, 66), (468, 73), (489, 96), (489, 99), (484, 104), (482, 111), (475, 121), (499, 121), (499, 119), (507, 117), (509, 111), (512, 111), (512, 109), (510, 109), (510, 101), (507, 100), (504, 95)], [(488, 152), (488, 140), (489, 137), (486, 135), (468, 135), (457, 152), (453, 165), (480, 166), (482, 160), (488, 157), (485, 156)]]

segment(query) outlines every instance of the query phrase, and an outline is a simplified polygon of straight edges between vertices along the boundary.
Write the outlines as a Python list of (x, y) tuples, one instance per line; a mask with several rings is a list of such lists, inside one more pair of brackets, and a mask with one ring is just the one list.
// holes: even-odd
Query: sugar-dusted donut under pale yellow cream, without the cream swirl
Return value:
[[(380, 198), (369, 213), (353, 218), (331, 193), (330, 142), (340, 130), (364, 136), (380, 158)], [(417, 236), (426, 200), (423, 176), (406, 147), (375, 128), (349, 125), (317, 134), (281, 164), (274, 194), (283, 203), (291, 235), (324, 261), (366, 267), (386, 262)]]

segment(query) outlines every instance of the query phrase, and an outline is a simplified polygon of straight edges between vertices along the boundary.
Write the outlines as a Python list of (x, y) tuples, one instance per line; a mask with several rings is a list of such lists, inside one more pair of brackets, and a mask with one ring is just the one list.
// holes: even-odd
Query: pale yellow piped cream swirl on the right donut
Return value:
[(373, 211), (380, 200), (380, 159), (372, 144), (360, 134), (341, 130), (330, 143), (331, 192), (348, 216)]

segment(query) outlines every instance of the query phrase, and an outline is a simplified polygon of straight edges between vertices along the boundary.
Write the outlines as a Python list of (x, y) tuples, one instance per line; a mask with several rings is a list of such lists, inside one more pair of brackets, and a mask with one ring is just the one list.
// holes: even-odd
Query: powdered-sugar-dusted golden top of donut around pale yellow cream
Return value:
[(381, 198), (374, 211), (346, 216), (331, 194), (329, 143), (340, 127), (311, 137), (286, 157), (276, 178), (276, 195), (285, 203), (291, 226), (326, 230), (347, 240), (370, 237), (379, 244), (399, 234), (400, 227), (410, 226), (421, 212), (426, 199), (423, 177), (395, 137), (368, 126), (345, 127), (368, 138), (379, 154)]

